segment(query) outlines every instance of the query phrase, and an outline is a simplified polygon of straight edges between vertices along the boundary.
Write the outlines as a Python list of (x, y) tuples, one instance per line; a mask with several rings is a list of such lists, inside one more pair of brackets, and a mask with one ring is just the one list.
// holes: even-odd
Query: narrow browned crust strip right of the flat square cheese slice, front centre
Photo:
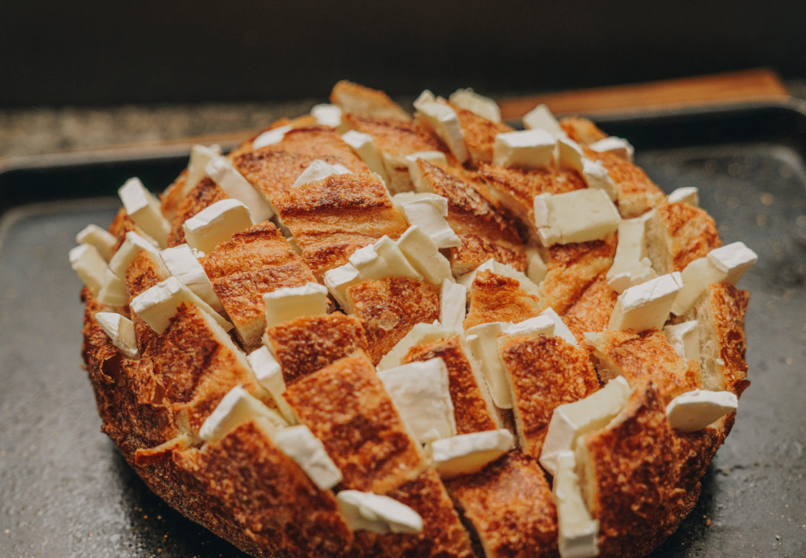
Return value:
[(484, 393), (487, 385), (480, 374), (474, 372), (459, 336), (414, 345), (401, 362), (427, 361), (430, 358), (442, 358), (448, 369), (448, 389), (454, 405), (457, 434), (501, 428), (492, 401)]

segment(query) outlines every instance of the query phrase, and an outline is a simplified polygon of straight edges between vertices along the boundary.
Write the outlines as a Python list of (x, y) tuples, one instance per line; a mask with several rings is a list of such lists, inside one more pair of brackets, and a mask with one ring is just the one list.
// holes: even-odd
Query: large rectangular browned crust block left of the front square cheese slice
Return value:
[(301, 378), (285, 400), (325, 444), (345, 489), (383, 494), (425, 469), (392, 399), (366, 354), (342, 358)]

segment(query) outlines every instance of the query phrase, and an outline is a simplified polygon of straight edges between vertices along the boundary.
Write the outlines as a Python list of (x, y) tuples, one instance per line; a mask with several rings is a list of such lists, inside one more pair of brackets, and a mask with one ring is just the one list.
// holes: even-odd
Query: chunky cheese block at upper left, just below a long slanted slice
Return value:
[(251, 227), (246, 205), (239, 200), (226, 199), (202, 209), (182, 225), (185, 241), (194, 250), (209, 253), (219, 242), (229, 242), (232, 235)]

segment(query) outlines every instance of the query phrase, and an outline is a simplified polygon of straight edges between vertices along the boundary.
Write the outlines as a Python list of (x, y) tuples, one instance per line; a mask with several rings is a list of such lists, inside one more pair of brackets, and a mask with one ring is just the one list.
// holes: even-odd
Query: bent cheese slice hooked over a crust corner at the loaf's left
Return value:
[(131, 310), (140, 316), (156, 333), (163, 333), (177, 313), (182, 303), (196, 304), (213, 316), (213, 319), (226, 331), (232, 329), (232, 324), (224, 320), (210, 308), (204, 300), (200, 299), (188, 287), (185, 287), (176, 277), (168, 277), (153, 287), (141, 292), (131, 300)]

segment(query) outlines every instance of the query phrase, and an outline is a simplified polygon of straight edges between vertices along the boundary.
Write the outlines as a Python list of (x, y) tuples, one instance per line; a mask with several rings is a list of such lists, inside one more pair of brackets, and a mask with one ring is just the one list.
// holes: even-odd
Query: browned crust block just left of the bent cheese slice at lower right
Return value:
[(599, 378), (588, 352), (559, 337), (501, 337), (499, 346), (521, 451), (540, 457), (555, 408), (591, 395)]

